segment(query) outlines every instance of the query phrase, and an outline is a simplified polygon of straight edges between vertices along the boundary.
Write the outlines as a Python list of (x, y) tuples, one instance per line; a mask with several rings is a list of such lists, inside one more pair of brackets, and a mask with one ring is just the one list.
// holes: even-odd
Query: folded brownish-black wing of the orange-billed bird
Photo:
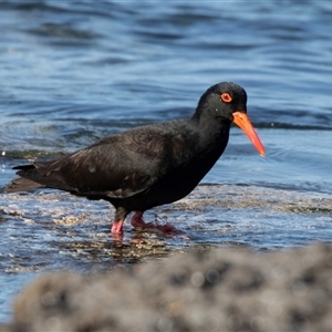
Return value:
[(125, 198), (148, 190), (173, 167), (169, 159), (177, 145), (172, 139), (154, 127), (132, 129), (54, 162), (18, 167), (18, 174), (79, 195)]

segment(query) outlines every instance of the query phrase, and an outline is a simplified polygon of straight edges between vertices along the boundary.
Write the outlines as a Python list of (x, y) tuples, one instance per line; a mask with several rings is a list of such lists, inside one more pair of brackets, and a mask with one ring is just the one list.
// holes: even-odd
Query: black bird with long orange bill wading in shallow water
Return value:
[(52, 162), (17, 166), (20, 178), (7, 193), (38, 187), (65, 190), (115, 207), (113, 235), (123, 234), (126, 216), (135, 211), (135, 228), (169, 225), (143, 221), (143, 212), (188, 195), (224, 153), (231, 123), (236, 123), (261, 155), (264, 148), (247, 116), (247, 93), (231, 82), (210, 86), (189, 118), (136, 127), (111, 135)]

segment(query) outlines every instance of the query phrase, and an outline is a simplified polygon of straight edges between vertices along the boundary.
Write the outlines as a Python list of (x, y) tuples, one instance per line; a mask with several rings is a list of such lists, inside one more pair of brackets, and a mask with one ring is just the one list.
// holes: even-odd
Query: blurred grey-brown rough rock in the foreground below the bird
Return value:
[(133, 270), (45, 276), (11, 331), (332, 331), (332, 247), (178, 253)]

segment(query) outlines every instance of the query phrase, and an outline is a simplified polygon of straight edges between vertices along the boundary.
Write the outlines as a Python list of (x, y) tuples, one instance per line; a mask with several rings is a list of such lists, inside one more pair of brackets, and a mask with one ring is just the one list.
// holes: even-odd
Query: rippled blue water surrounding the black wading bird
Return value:
[[(267, 156), (234, 127), (204, 179), (218, 185), (185, 208), (147, 214), (178, 222), (191, 241), (152, 247), (330, 242), (331, 17), (332, 2), (318, 0), (0, 2), (0, 188), (27, 159), (189, 116), (207, 87), (232, 81), (248, 93)], [(190, 199), (207, 207), (191, 210)], [(122, 252), (108, 238), (112, 212), (59, 191), (0, 194), (0, 321), (40, 272), (135, 262), (129, 226)]]

